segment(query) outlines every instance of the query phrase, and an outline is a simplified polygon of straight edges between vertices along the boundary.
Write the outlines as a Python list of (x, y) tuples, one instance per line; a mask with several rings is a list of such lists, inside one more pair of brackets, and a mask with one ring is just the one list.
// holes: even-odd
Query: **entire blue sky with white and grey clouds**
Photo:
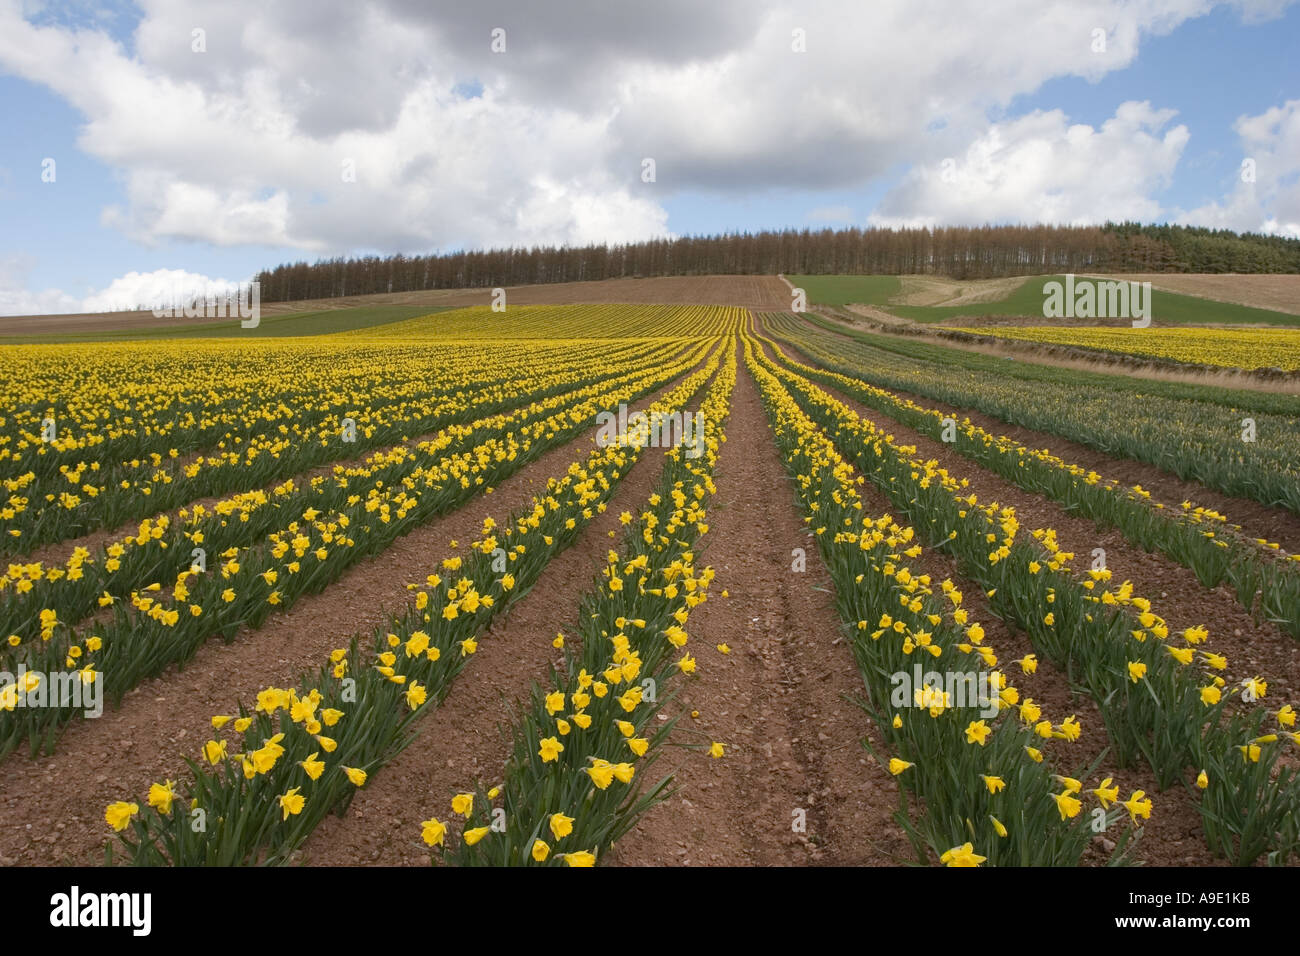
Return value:
[(0, 0), (0, 315), (724, 232), (1300, 237), (1295, 0)]

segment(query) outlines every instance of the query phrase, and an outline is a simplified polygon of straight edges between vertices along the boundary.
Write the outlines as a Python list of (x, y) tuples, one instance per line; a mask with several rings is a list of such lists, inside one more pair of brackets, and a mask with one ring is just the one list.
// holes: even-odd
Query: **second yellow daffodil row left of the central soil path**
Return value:
[[(718, 368), (715, 350), (649, 411), (684, 408)], [(138, 865), (287, 860), (410, 741), (493, 618), (604, 510), (645, 438), (620, 434), (552, 477), (530, 507), (485, 519), (469, 553), (445, 558), (373, 639), (354, 636), (296, 688), (265, 688), (254, 706), (214, 717), (217, 734), (191, 761), (187, 783), (156, 783), (143, 808), (134, 800), (107, 808), (118, 852)]]

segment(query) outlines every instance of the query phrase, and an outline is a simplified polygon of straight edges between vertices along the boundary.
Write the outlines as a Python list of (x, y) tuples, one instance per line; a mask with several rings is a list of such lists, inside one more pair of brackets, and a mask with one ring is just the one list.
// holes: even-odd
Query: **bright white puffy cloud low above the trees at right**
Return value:
[(993, 124), (961, 156), (914, 166), (881, 199), (872, 225), (1152, 221), (1187, 144), (1175, 113), (1123, 103), (1093, 129), (1060, 109)]

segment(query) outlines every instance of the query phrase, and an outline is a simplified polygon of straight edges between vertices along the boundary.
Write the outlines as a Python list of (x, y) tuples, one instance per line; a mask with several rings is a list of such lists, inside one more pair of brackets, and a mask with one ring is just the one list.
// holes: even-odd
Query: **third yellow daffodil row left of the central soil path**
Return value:
[[(286, 494), (263, 512), (280, 519), (269, 531), (257, 522), (254, 541), (212, 550), (212, 564), (202, 571), (190, 563), (191, 549), (174, 548), (185, 567), (164, 579), (165, 591), (155, 581), (133, 588), (126, 600), (104, 593), (99, 604), (105, 611), (81, 627), (68, 627), (57, 609), (43, 609), (40, 632), (32, 633), (34, 622), (26, 633), (14, 633), (0, 649), (0, 663), (13, 665), (10, 671), (23, 665), (35, 674), (75, 666), (83, 680), (103, 680), (103, 696), (117, 706), (142, 680), (185, 662), (209, 637), (230, 640), (239, 628), (259, 627), (303, 594), (324, 591), (358, 561), (571, 441), (590, 428), (598, 411), (682, 375), (706, 349), (699, 346), (680, 363), (601, 380), (443, 429), (415, 449), (377, 454), (355, 473), (312, 481), (303, 494)], [(220, 538), (202, 531), (188, 535), (190, 542), (208, 548)], [(0, 754), (22, 743), (32, 753), (48, 750), (58, 730), (82, 713), (77, 704), (12, 709), (0, 704)]]

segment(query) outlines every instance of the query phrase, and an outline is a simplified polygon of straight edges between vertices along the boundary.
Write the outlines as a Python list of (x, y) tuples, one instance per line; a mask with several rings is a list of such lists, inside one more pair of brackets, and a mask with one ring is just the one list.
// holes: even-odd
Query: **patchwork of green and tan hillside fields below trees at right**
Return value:
[[(1030, 276), (956, 281), (931, 276), (788, 276), (809, 302), (827, 306), (863, 303), (916, 323), (962, 325), (996, 320), (1044, 321), (1043, 287), (1065, 276)], [(1083, 278), (1083, 277), (1078, 277)], [(1156, 325), (1283, 325), (1300, 328), (1294, 276), (1093, 276), (1097, 281), (1152, 281)], [(1165, 284), (1162, 280), (1169, 280)], [(1213, 280), (1213, 281), (1212, 281)], [(1258, 287), (1257, 293), (1251, 290)], [(1187, 289), (1187, 293), (1176, 291)], [(1195, 291), (1193, 291), (1195, 290)], [(1063, 320), (1062, 320), (1063, 321)], [(1095, 324), (1095, 323), (1086, 323)], [(1127, 324), (1127, 323), (1126, 323)]]

